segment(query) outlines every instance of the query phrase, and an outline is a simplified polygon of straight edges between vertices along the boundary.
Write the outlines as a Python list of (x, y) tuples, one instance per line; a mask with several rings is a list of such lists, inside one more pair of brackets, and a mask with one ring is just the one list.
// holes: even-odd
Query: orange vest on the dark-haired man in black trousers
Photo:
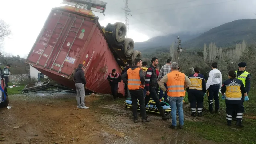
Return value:
[(128, 89), (129, 90), (138, 90), (140, 88), (144, 88), (144, 85), (141, 84), (140, 81), (140, 75), (139, 75), (139, 71), (142, 68), (135, 68), (134, 70), (132, 70), (131, 68), (129, 68), (127, 70), (127, 75), (128, 75)]

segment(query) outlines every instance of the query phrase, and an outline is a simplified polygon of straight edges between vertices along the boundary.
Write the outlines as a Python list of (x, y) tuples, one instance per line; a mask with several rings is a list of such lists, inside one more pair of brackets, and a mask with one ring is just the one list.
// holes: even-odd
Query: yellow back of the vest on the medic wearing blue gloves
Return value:
[(241, 84), (230, 83), (226, 84), (226, 99), (227, 100), (241, 100)]

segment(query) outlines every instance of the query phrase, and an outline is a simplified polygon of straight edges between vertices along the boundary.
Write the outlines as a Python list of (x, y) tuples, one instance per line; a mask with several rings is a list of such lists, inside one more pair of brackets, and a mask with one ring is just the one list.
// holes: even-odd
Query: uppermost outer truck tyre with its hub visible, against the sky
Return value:
[(113, 36), (115, 38), (115, 41), (123, 42), (126, 36), (126, 31), (127, 31), (124, 23), (116, 22), (114, 26), (115, 26), (115, 30), (114, 30)]

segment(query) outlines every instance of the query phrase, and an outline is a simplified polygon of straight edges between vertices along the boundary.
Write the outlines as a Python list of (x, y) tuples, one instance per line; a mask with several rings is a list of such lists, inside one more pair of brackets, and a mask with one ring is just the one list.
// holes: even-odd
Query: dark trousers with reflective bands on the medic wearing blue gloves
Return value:
[(226, 113), (227, 113), (226, 119), (228, 123), (232, 122), (232, 112), (235, 110), (237, 112), (236, 121), (241, 122), (243, 119), (243, 112), (244, 112), (243, 102), (239, 104), (226, 103)]

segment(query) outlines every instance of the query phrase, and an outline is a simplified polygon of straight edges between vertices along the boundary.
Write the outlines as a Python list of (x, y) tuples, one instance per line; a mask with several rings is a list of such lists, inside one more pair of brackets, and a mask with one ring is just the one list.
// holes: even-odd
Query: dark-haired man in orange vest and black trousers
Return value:
[(143, 89), (145, 87), (145, 79), (143, 75), (142, 60), (136, 59), (135, 64), (132, 68), (129, 68), (127, 72), (125, 72), (121, 78), (124, 83), (127, 83), (128, 89), (132, 98), (132, 114), (134, 123), (138, 122), (137, 115), (137, 99), (140, 103), (140, 114), (142, 116), (142, 122), (149, 122), (150, 119), (146, 116), (146, 107), (144, 100), (144, 92)]

